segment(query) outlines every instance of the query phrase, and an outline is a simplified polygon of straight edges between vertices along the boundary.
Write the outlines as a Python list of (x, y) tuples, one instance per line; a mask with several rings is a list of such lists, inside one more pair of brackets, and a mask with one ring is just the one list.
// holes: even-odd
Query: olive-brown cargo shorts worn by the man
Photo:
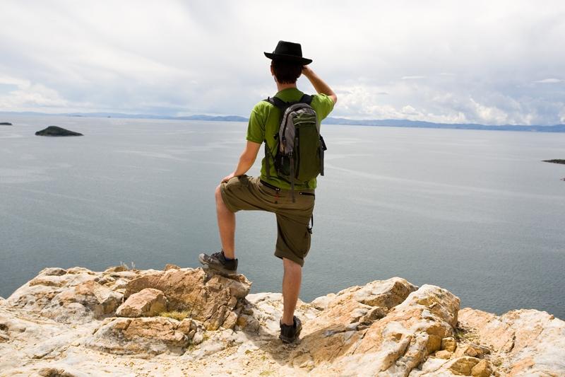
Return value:
[(310, 250), (308, 228), (314, 211), (314, 190), (295, 190), (295, 203), (290, 190), (275, 190), (259, 178), (240, 175), (220, 185), (222, 199), (232, 212), (261, 210), (277, 216), (275, 256), (304, 265)]

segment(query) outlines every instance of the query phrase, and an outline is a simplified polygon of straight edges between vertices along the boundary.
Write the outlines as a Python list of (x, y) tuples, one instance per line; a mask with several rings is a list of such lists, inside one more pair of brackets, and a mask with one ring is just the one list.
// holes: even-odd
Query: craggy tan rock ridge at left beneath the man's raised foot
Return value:
[(243, 275), (208, 276), (200, 268), (130, 271), (119, 266), (105, 272), (47, 268), (8, 297), (8, 303), (61, 323), (176, 311), (201, 321), (207, 330), (217, 330), (234, 327), (241, 311), (237, 304), (250, 288)]

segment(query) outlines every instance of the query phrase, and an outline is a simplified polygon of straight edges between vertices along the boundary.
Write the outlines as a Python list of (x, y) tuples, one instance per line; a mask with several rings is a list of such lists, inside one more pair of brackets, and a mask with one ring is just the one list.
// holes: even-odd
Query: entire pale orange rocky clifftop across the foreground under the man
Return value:
[(44, 269), (0, 298), (0, 376), (563, 376), (565, 323), (459, 309), (394, 277), (299, 301), (299, 344), (278, 340), (281, 294), (243, 276), (167, 265)]

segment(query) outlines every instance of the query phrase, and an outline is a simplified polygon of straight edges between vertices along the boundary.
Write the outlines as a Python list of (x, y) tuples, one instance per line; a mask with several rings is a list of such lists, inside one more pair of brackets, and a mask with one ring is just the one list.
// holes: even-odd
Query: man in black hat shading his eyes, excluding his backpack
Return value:
[[(303, 74), (318, 94), (312, 95), (311, 107), (321, 122), (338, 100), (331, 88), (307, 65), (312, 61), (302, 57), (298, 43), (278, 42), (273, 53), (265, 52), (272, 60), (270, 73), (274, 76), (278, 93), (275, 97), (286, 103), (298, 101), (302, 93), (296, 81)], [(302, 330), (302, 323), (295, 317), (295, 308), (302, 281), (302, 266), (310, 248), (309, 221), (314, 210), (316, 178), (296, 184), (294, 192), (290, 182), (277, 175), (273, 161), (263, 158), (261, 177), (252, 178), (245, 173), (256, 159), (261, 144), (266, 142), (271, 151), (276, 148), (275, 135), (280, 125), (280, 110), (267, 101), (257, 103), (251, 111), (247, 129), (247, 144), (239, 158), (237, 168), (216, 187), (216, 212), (222, 250), (213, 255), (201, 254), (198, 259), (210, 269), (225, 274), (237, 273), (235, 259), (235, 212), (239, 210), (263, 210), (276, 214), (278, 238), (275, 256), (283, 260), (283, 318), (280, 320), (280, 339), (295, 342)], [(267, 172), (266, 170), (269, 170)], [(297, 195), (294, 195), (294, 194)]]

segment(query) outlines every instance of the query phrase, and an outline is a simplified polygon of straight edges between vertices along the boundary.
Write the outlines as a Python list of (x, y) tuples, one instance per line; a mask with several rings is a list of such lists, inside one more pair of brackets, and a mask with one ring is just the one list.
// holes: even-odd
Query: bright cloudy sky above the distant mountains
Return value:
[(0, 111), (249, 116), (278, 40), (333, 117), (565, 123), (561, 0), (2, 0)]

